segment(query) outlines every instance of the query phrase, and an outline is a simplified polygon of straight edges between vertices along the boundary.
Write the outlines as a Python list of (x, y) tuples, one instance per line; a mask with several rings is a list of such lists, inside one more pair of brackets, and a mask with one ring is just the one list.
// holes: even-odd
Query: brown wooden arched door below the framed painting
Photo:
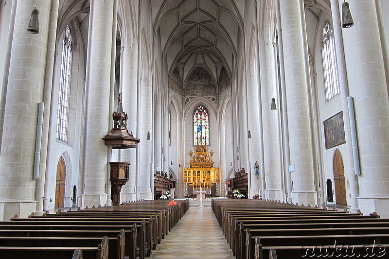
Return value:
[(347, 205), (343, 159), (339, 150), (336, 150), (334, 154), (334, 185), (336, 205)]

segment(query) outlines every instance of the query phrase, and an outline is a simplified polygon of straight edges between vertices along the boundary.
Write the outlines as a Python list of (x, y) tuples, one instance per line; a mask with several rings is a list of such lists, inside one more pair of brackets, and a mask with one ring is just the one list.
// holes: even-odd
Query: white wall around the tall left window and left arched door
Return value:
[[(71, 93), (70, 93), (70, 112), (68, 120), (69, 123), (68, 135), (70, 141), (63, 142), (56, 138), (56, 123), (58, 111), (58, 94), (59, 94), (59, 76), (61, 69), (61, 55), (62, 55), (62, 35), (63, 32), (58, 32), (57, 52), (54, 61), (54, 79), (52, 92), (52, 107), (49, 128), (49, 152), (46, 167), (46, 185), (45, 185), (45, 207), (44, 210), (51, 210), (54, 208), (55, 198), (55, 181), (57, 163), (61, 155), (65, 156), (66, 165), (66, 186), (65, 186), (65, 207), (72, 206), (72, 190), (75, 185), (77, 188), (77, 197), (82, 193), (82, 186), (79, 186), (79, 173), (81, 171), (81, 142), (83, 139), (83, 114), (84, 114), (84, 91), (85, 91), (85, 55), (83, 41), (80, 40), (80, 35), (77, 35), (78, 30), (72, 30), (73, 43), (77, 50), (73, 52), (73, 66), (71, 72)], [(50, 202), (50, 199), (53, 199)]]

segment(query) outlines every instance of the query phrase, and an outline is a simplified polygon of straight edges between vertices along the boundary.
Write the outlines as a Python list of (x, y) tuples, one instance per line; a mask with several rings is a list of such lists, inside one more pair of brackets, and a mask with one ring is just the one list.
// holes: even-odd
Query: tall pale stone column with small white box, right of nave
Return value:
[[(285, 69), (286, 104), (290, 162), (295, 166), (292, 173), (292, 201), (304, 205), (317, 204), (312, 155), (307, 75), (304, 58), (301, 0), (280, 0), (283, 54)], [(280, 32), (279, 32), (280, 33)]]

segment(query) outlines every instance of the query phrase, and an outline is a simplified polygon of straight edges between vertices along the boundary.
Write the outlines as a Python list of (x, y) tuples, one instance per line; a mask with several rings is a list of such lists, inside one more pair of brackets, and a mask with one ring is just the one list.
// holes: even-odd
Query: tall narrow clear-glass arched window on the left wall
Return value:
[(62, 41), (61, 74), (59, 79), (59, 99), (57, 113), (57, 138), (67, 141), (69, 92), (71, 76), (71, 30), (66, 26)]

